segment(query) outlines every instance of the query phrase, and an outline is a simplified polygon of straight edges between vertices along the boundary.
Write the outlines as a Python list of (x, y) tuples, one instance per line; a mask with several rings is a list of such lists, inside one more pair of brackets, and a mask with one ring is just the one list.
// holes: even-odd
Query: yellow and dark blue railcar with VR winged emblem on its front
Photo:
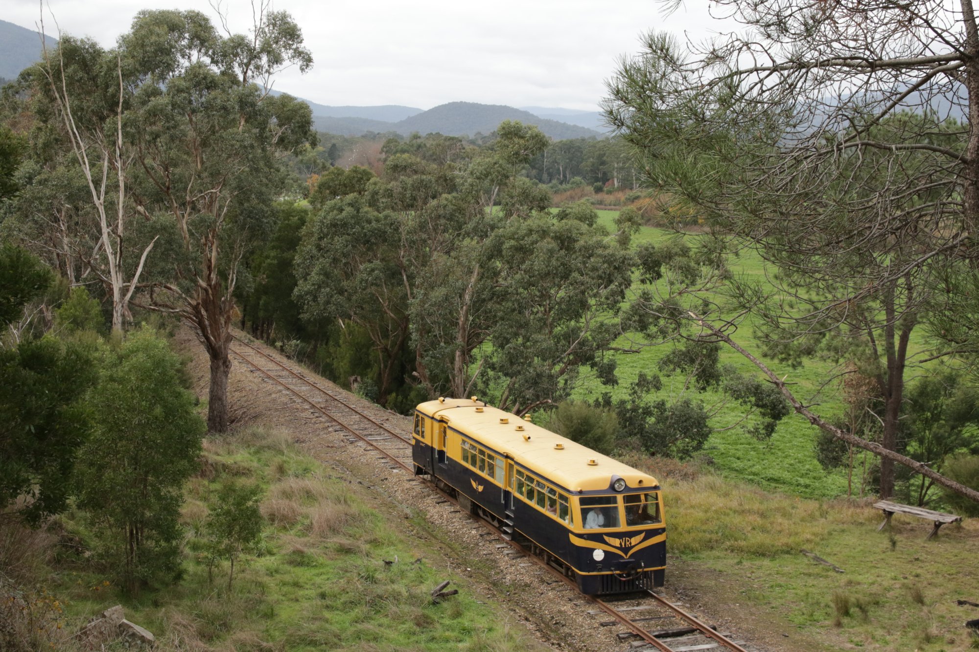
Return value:
[(652, 476), (475, 396), (419, 404), (412, 458), (417, 475), (526, 539), (583, 593), (663, 585), (666, 519)]

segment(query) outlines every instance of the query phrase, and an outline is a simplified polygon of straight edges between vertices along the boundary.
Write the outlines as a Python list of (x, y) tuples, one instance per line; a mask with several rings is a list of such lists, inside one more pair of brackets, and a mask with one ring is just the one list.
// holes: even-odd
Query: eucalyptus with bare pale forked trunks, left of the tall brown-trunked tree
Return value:
[(33, 156), (24, 170), (18, 230), (70, 282), (96, 277), (112, 302), (113, 329), (121, 331), (156, 242), (140, 243), (129, 232), (146, 214), (126, 183), (134, 162), (122, 120), (133, 79), (117, 50), (59, 37), (58, 47), (45, 44), (43, 60), (19, 80), (33, 123)]

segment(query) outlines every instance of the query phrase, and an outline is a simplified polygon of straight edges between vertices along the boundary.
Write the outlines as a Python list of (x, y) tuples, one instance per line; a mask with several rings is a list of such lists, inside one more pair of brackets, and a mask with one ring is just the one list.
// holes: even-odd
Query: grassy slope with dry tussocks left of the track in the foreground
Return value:
[[(236, 565), (230, 590), (227, 564), (210, 582), (200, 556), (210, 496), (229, 478), (265, 489), (266, 520), (260, 553)], [(375, 509), (373, 498), (349, 480), (326, 475), (284, 434), (254, 429), (207, 440), (202, 472), (185, 493), (190, 534), (183, 580), (132, 599), (111, 575), (62, 559), (42, 582), (64, 609), (59, 627), (73, 632), (122, 604), (128, 620), (156, 634), (158, 649), (536, 649), (535, 641), (510, 629), (496, 605), (474, 597), (470, 582), (445, 571), (431, 538), (404, 534), (405, 524), (425, 533), (423, 518)], [(77, 529), (74, 515), (64, 518), (70, 531)], [(443, 580), (460, 593), (434, 604), (429, 592)]]

